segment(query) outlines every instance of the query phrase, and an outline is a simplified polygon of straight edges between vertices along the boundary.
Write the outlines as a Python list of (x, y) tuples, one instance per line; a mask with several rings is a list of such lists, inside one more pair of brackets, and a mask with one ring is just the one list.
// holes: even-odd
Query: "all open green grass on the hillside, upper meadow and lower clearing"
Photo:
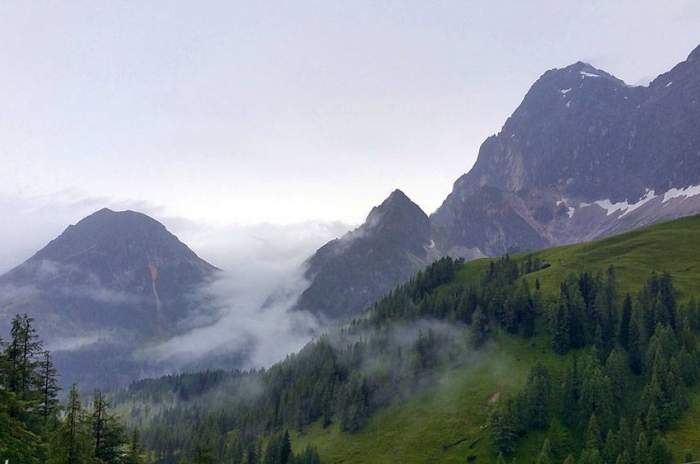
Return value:
[[(669, 272), (680, 297), (700, 294), (700, 216), (652, 226), (605, 240), (538, 252), (551, 266), (537, 277), (543, 291), (554, 293), (572, 272), (605, 270), (614, 265), (622, 291), (634, 292), (653, 270)], [(467, 263), (458, 278), (477, 279), (488, 260)], [(342, 433), (336, 426), (315, 425), (295, 435), (295, 446), (311, 443), (326, 463), (450, 463), (494, 462), (486, 423), (486, 409), (494, 393), (517, 391), (528, 370), (541, 360), (556, 364), (546, 342), (526, 342), (499, 337), (477, 365), (452, 368), (431, 391), (376, 413), (359, 433)], [(470, 445), (478, 438), (480, 441)], [(443, 445), (467, 438), (459, 445)], [(700, 390), (693, 395), (690, 411), (668, 436), (680, 456), (692, 449), (700, 456)], [(539, 451), (542, 437), (529, 436), (518, 449), (518, 462), (529, 462)]]

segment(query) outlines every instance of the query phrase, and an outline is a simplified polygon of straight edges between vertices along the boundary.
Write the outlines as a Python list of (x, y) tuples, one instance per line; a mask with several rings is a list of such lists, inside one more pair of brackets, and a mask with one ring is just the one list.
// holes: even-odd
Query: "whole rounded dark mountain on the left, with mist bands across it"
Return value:
[(99, 383), (115, 364), (131, 380), (132, 351), (177, 333), (216, 272), (158, 221), (102, 209), (0, 276), (0, 325), (33, 316), (64, 380)]

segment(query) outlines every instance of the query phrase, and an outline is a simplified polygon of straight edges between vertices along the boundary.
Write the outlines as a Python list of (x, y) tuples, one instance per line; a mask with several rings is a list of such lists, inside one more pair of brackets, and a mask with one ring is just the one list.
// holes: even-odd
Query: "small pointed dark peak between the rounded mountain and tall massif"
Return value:
[(311, 285), (297, 308), (330, 318), (342, 317), (348, 307), (363, 308), (432, 261), (434, 248), (428, 216), (395, 190), (364, 224), (308, 260)]

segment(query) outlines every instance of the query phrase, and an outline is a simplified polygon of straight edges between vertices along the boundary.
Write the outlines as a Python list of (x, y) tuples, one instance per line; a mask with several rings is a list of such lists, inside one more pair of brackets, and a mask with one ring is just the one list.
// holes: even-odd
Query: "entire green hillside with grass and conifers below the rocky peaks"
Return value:
[(269, 369), (143, 380), (114, 401), (162, 464), (202, 448), (259, 462), (286, 430), (323, 463), (692, 462), (699, 241), (693, 216), (442, 258)]

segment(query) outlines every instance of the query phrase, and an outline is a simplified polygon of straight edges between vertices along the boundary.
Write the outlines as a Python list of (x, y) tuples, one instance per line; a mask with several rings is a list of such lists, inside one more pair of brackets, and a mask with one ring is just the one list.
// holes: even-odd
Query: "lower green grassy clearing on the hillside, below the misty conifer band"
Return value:
[[(313, 444), (324, 463), (462, 463), (471, 455), (476, 462), (494, 461), (482, 428), (488, 404), (495, 394), (517, 391), (536, 359), (556, 362), (543, 343), (536, 345), (499, 338), (475, 365), (446, 370), (433, 389), (378, 412), (360, 432), (316, 424), (294, 437), (295, 447)], [(522, 452), (533, 452), (527, 448)]]

